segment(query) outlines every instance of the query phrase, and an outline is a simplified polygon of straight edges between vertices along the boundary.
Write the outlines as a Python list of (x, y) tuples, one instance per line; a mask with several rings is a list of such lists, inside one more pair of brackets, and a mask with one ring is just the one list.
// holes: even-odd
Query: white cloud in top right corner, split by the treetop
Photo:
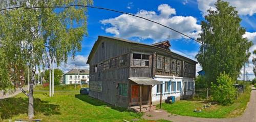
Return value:
[[(256, 13), (255, 0), (225, 0), (229, 2), (231, 6), (236, 7), (240, 15), (250, 15), (252, 16)], [(198, 9), (202, 11), (203, 15), (207, 13), (209, 8), (216, 9), (214, 4), (217, 0), (197, 0)]]

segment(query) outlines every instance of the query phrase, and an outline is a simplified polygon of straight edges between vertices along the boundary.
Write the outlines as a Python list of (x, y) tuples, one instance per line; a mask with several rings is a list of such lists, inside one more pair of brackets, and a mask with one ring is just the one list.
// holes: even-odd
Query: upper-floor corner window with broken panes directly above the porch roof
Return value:
[(150, 55), (133, 53), (133, 66), (149, 66)]

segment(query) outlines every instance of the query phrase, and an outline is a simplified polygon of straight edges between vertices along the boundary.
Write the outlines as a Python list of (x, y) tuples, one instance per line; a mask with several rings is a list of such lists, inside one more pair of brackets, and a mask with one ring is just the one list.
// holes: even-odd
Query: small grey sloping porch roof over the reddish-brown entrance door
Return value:
[(154, 80), (152, 78), (129, 78), (133, 82), (139, 84), (139, 85), (157, 85), (157, 84), (163, 84), (160, 81)]

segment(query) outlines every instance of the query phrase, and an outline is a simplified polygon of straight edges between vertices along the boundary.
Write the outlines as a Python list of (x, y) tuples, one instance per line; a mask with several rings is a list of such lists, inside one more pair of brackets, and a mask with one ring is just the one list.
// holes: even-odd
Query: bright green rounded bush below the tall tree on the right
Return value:
[(230, 105), (236, 98), (236, 88), (234, 81), (227, 74), (221, 73), (217, 78), (217, 84), (211, 83), (212, 98), (222, 105)]

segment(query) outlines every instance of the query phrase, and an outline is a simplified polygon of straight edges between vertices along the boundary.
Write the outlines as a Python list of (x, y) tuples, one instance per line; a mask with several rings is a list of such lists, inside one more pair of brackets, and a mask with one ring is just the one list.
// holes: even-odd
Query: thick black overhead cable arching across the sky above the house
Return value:
[[(123, 11), (118, 11), (118, 10), (114, 10), (114, 9), (108, 9), (108, 8), (102, 8), (102, 7), (95, 7), (95, 6), (86, 6), (86, 5), (70, 5), (70, 6), (74, 6), (74, 7), (88, 7), (88, 8), (94, 8), (94, 9), (102, 9), (102, 10), (108, 10), (108, 11), (113, 11), (113, 12), (117, 12), (117, 13), (122, 13), (122, 14), (127, 14), (127, 15), (131, 15), (131, 16), (135, 16), (135, 17), (138, 17), (138, 18), (141, 18), (141, 19), (144, 19), (144, 20), (147, 20), (147, 21), (150, 21), (150, 22), (153, 22), (153, 23), (156, 23), (156, 24), (159, 24), (163, 27), (166, 27), (166, 28), (169, 28), (171, 29), (172, 31), (176, 32), (176, 33), (179, 33), (191, 40), (194, 40), (200, 44), (202, 44), (201, 42), (195, 40), (194, 38), (192, 37), (189, 37), (188, 35), (186, 34), (183, 34), (179, 31), (177, 31), (176, 29), (172, 28), (172, 27), (168, 27), (166, 25), (163, 25), (159, 22), (156, 22), (156, 21), (153, 21), (153, 20), (150, 20), (150, 19), (147, 19), (147, 18), (144, 18), (144, 17), (141, 17), (141, 16), (137, 16), (137, 15), (133, 15), (133, 14), (130, 14), (130, 13), (127, 13), (127, 12), (123, 12)], [(1, 9), (0, 11), (3, 11), (3, 10), (9, 10), (9, 9), (15, 9), (15, 8), (24, 8), (23, 6), (19, 6), (19, 7), (12, 7), (12, 8), (7, 8), (7, 9)], [(45, 6), (45, 7), (25, 7), (25, 9), (36, 9), (36, 8), (69, 8), (69, 6)]]

